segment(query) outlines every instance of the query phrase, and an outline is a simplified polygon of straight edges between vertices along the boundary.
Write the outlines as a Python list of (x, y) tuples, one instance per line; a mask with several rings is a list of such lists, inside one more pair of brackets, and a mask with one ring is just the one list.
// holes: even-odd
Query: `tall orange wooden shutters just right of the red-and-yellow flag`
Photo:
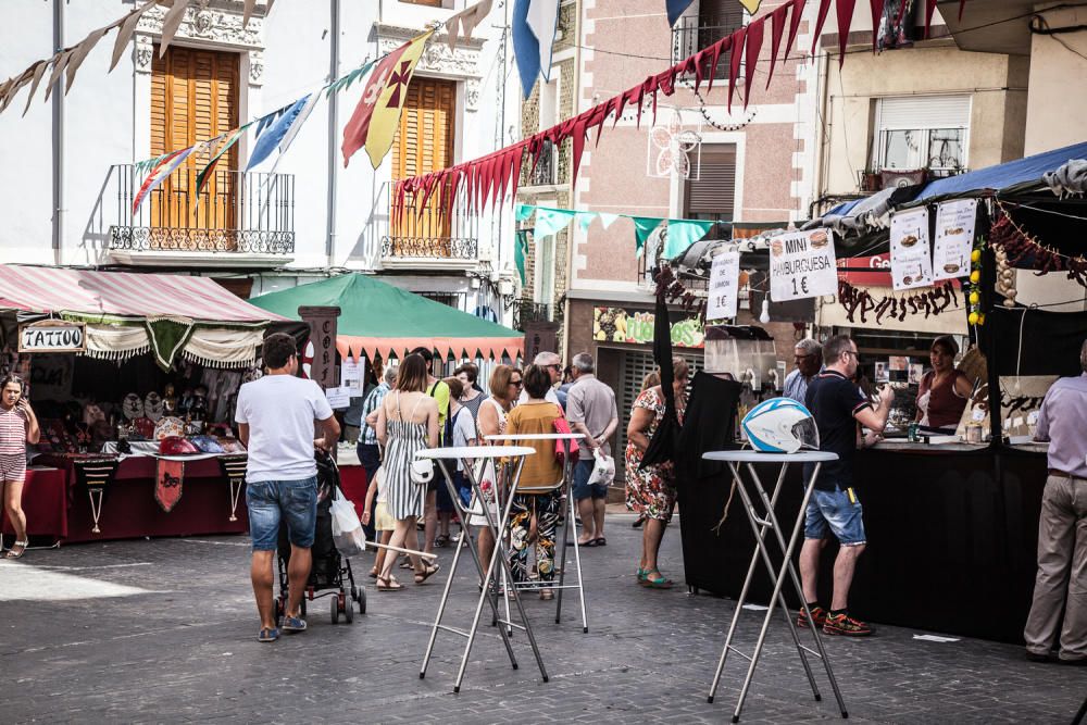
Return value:
[[(452, 80), (415, 76), (408, 86), (400, 125), (392, 139), (392, 177), (409, 178), (453, 165), (457, 84)], [(427, 257), (448, 257), (452, 224), (449, 214), (438, 209), (434, 195), (422, 214), (405, 209), (402, 218), (393, 218), (390, 236), (425, 240)], [(430, 243), (429, 240), (440, 240)], [(396, 253), (396, 252), (393, 252)]]

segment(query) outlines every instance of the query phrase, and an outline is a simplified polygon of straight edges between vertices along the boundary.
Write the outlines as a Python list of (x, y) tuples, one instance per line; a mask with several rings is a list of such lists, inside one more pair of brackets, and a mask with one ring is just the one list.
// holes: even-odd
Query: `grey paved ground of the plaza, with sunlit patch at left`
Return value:
[[(680, 586), (636, 586), (640, 533), (630, 521), (610, 515), (608, 546), (583, 550), (588, 634), (573, 600), (561, 625), (553, 603), (528, 601), (550, 682), (523, 635), (514, 671), (496, 629), (484, 627), (459, 695), (463, 640), (452, 635), (439, 636), (418, 678), (445, 571), (378, 592), (364, 554), (355, 571), (366, 615), (334, 626), (321, 600), (309, 632), (260, 645), (245, 537), (30, 551), (0, 562), (0, 722), (728, 722), (741, 662), (730, 660), (714, 704), (705, 695), (734, 602), (687, 593), (676, 530), (662, 562)], [(466, 625), (475, 592), (462, 568), (450, 624)], [(739, 641), (749, 648), (759, 617), (745, 614)], [(865, 640), (826, 640), (850, 721), (1067, 723), (1087, 695), (1087, 668), (1030, 663), (1009, 645), (915, 639), (922, 634), (880, 627)], [(741, 722), (837, 720), (822, 676), (820, 686), (816, 703), (775, 621)]]

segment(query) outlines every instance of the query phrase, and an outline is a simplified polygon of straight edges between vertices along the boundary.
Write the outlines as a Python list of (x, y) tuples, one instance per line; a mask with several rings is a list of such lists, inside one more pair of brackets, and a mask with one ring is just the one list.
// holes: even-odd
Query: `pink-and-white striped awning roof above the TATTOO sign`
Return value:
[(210, 277), (0, 264), (0, 310), (123, 317), (184, 316), (200, 323), (267, 323)]

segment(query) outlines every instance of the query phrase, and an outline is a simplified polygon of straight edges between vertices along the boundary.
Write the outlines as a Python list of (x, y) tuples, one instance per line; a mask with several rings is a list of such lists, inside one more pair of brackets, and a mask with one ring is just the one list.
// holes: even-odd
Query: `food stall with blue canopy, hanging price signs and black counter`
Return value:
[[(905, 334), (900, 339), (962, 341), (957, 364), (972, 395), (958, 424), (910, 436), (916, 414), (899, 411), (886, 440), (858, 452), (869, 540), (850, 607), (861, 616), (1022, 641), (1047, 475), (1048, 446), (1033, 440), (1037, 410), (1059, 376), (1080, 373), (1087, 337), (1084, 159), (1087, 143), (900, 189), (767, 245), (772, 297), (794, 296), (794, 284), (803, 293), (807, 283), (819, 301), (817, 337), (863, 339), (889, 325)], [(927, 368), (926, 347), (865, 349), (860, 339), (859, 347), (876, 379), (904, 391), (896, 405), (916, 397), (910, 368), (890, 362), (909, 358)], [(886, 376), (875, 371), (879, 362)], [(797, 485), (783, 489), (778, 507), (795, 515), (799, 467), (789, 475)], [(732, 482), (720, 467), (700, 466), (680, 487), (688, 585), (737, 596), (752, 535), (729, 511)], [(822, 558), (821, 595), (829, 593), (833, 561)], [(757, 577), (763, 599), (767, 585)]]

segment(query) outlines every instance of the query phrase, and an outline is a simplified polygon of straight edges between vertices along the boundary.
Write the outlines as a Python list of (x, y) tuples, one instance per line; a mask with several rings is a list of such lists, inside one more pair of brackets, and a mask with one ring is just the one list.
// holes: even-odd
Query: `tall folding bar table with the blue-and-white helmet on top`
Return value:
[[(789, 634), (792, 635), (792, 642), (797, 648), (797, 655), (800, 658), (800, 662), (804, 666), (804, 674), (808, 676), (808, 684), (811, 685), (812, 693), (815, 696), (815, 701), (817, 702), (823, 698), (820, 695), (819, 686), (815, 684), (815, 676), (812, 673), (811, 664), (808, 662), (809, 654), (817, 658), (823, 663), (826, 676), (830, 680), (830, 689), (834, 690), (834, 697), (838, 701), (838, 710), (841, 712), (842, 717), (848, 717), (849, 715), (846, 712), (846, 703), (842, 701), (841, 692), (838, 690), (838, 683), (834, 678), (834, 672), (830, 670), (830, 661), (827, 659), (826, 651), (823, 649), (823, 640), (819, 636), (817, 627), (810, 627), (812, 638), (815, 642), (815, 649), (813, 650), (801, 645), (800, 636), (797, 634), (796, 624), (789, 613), (785, 596), (782, 593), (782, 586), (785, 584), (786, 576), (788, 576), (792, 583), (797, 597), (800, 598), (801, 607), (803, 607), (804, 613), (808, 615), (808, 621), (812, 622), (812, 615), (808, 609), (808, 601), (804, 598), (803, 588), (800, 585), (800, 577), (797, 575), (797, 570), (792, 565), (792, 551), (796, 548), (797, 538), (800, 536), (800, 527), (804, 522), (804, 511), (808, 508), (808, 501), (811, 499), (812, 490), (815, 488), (815, 479), (819, 478), (820, 467), (822, 467), (823, 463), (827, 461), (838, 460), (838, 454), (825, 451), (807, 451), (802, 453), (760, 453), (759, 451), (748, 450), (713, 451), (703, 454), (702, 458), (708, 461), (724, 461), (728, 464), (728, 467), (733, 472), (733, 478), (736, 482), (736, 488), (739, 490), (740, 498), (744, 500), (744, 511), (747, 513), (747, 517), (751, 524), (751, 530), (754, 534), (755, 539), (755, 548), (751, 554), (751, 565), (748, 567), (747, 577), (744, 579), (744, 588), (740, 590), (740, 597), (736, 601), (736, 611), (733, 612), (733, 621), (728, 625), (728, 635), (725, 637), (725, 646), (721, 651), (721, 660), (717, 662), (717, 671), (713, 675), (713, 684), (710, 686), (708, 702), (713, 702), (713, 696), (717, 691), (717, 684), (721, 682), (721, 673), (725, 667), (725, 660), (727, 659), (728, 653), (735, 652), (745, 660), (748, 660), (750, 664), (748, 665), (747, 676), (744, 678), (744, 686), (740, 688), (740, 696), (736, 702), (736, 710), (733, 712), (733, 722), (739, 722), (740, 711), (744, 709), (744, 700), (747, 699), (748, 689), (751, 686), (751, 679), (754, 676), (755, 667), (759, 666), (759, 655), (762, 654), (762, 648), (766, 641), (766, 630), (770, 628), (770, 621), (774, 616), (774, 608), (779, 604), (782, 615), (785, 617), (785, 622), (789, 627)], [(744, 480), (744, 476), (741, 475), (741, 464), (744, 463), (747, 464), (747, 471), (751, 476), (750, 485), (753, 487), (752, 491), (748, 491), (748, 484)], [(763, 488), (762, 482), (759, 479), (759, 474), (754, 468), (755, 463), (780, 464), (777, 483), (774, 485), (774, 491), (771, 496), (766, 495), (766, 489)], [(797, 512), (797, 520), (792, 525), (789, 539), (786, 541), (782, 524), (778, 522), (777, 515), (774, 513), (774, 505), (777, 503), (777, 496), (780, 492), (782, 484), (785, 480), (785, 472), (790, 463), (814, 463), (815, 467), (804, 486), (804, 498), (800, 504), (800, 511)], [(755, 508), (755, 499), (758, 499), (761, 512)], [(774, 538), (777, 539), (777, 545), (782, 552), (782, 560), (779, 564), (774, 563), (770, 549), (766, 547), (767, 530), (773, 530)], [(759, 632), (759, 639), (755, 642), (754, 651), (748, 655), (740, 652), (733, 646), (733, 637), (736, 634), (736, 625), (739, 622), (740, 613), (744, 611), (748, 589), (751, 586), (751, 579), (754, 576), (754, 570), (760, 559), (765, 565), (766, 571), (770, 573), (771, 579), (774, 583), (774, 593), (771, 596), (770, 602), (767, 602), (766, 613), (763, 616), (762, 628)]]

